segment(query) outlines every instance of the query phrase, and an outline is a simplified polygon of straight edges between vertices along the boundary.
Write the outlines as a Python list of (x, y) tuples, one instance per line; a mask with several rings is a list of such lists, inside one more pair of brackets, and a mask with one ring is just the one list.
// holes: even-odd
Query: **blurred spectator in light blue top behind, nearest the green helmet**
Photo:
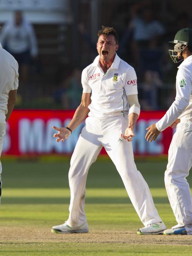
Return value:
[[(151, 1), (137, 3), (130, 8), (131, 21), (128, 26), (132, 36), (133, 65), (137, 74), (151, 69), (161, 73), (160, 62), (163, 51), (162, 36), (165, 29), (161, 22), (154, 18)], [(127, 32), (126, 32), (127, 33)], [(146, 67), (147, 63), (147, 67)]]

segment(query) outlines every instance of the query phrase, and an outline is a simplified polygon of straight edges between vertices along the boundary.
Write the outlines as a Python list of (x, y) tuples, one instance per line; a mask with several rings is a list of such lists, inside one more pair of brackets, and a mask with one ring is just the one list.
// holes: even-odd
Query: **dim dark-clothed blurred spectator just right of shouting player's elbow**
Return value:
[(156, 71), (144, 72), (143, 82), (138, 84), (141, 93), (141, 108), (143, 110), (155, 110), (159, 108), (159, 88), (163, 82)]

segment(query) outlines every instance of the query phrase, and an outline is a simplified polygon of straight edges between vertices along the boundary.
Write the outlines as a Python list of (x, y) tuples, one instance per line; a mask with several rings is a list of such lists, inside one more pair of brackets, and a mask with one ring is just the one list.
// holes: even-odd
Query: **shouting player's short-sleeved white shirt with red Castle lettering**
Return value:
[(106, 74), (99, 55), (82, 71), (83, 93), (91, 93), (89, 116), (123, 116), (129, 112), (127, 95), (137, 94), (137, 76), (133, 67), (115, 55)]

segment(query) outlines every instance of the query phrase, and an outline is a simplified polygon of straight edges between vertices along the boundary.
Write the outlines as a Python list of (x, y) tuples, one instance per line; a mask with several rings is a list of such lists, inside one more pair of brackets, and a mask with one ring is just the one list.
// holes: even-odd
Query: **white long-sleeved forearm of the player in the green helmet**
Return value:
[(162, 132), (169, 127), (183, 113), (189, 105), (189, 101), (184, 98), (176, 98), (165, 115), (156, 123), (157, 129)]

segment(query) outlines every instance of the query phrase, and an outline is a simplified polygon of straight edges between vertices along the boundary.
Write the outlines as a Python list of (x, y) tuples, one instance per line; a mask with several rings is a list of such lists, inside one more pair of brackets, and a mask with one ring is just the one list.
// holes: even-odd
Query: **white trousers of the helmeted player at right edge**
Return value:
[(169, 148), (165, 187), (178, 223), (173, 228), (185, 225), (188, 235), (192, 235), (192, 197), (186, 177), (191, 167), (192, 122), (181, 120)]

